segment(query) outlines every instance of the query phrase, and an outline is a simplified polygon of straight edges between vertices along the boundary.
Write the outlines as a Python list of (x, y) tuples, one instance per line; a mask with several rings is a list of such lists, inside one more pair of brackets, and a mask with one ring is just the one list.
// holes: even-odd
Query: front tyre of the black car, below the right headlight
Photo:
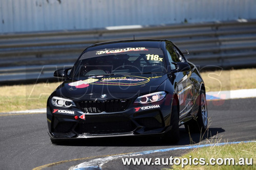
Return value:
[(172, 126), (172, 129), (164, 134), (163, 141), (165, 143), (177, 143), (180, 140), (180, 130), (179, 109), (175, 99), (172, 106), (172, 114), (170, 116), (170, 126)]

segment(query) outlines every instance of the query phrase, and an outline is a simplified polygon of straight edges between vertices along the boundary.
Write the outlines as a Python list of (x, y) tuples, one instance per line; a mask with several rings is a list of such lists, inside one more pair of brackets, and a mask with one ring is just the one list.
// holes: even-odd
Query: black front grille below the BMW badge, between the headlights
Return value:
[(104, 102), (100, 101), (82, 101), (79, 102), (81, 110), (85, 113), (101, 113), (124, 111), (129, 104), (126, 99), (111, 99)]

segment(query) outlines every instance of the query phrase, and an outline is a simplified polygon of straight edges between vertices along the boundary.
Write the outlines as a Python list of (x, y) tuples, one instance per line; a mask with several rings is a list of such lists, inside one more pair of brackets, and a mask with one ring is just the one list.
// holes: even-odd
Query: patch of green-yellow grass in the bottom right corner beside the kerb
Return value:
[(256, 169), (256, 142), (227, 144), (222, 146), (198, 148), (180, 157), (187, 158), (205, 158), (205, 162), (209, 162), (210, 158), (234, 158), (234, 163), (238, 163), (240, 158), (252, 158), (253, 165), (173, 165), (164, 169)]

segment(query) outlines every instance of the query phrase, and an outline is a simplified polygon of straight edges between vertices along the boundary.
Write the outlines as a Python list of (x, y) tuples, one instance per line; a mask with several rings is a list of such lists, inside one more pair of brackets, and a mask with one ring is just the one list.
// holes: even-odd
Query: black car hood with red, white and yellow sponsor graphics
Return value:
[(166, 74), (91, 76), (78, 81), (67, 80), (55, 92), (58, 96), (77, 100), (133, 98), (155, 92), (166, 79)]

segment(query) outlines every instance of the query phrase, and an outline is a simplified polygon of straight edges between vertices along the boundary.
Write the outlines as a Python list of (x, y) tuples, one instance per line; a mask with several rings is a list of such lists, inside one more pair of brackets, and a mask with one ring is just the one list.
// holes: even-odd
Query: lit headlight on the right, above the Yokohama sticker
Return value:
[(155, 93), (150, 93), (146, 95), (139, 96), (134, 103), (147, 104), (161, 101), (166, 95), (166, 92), (159, 91)]

